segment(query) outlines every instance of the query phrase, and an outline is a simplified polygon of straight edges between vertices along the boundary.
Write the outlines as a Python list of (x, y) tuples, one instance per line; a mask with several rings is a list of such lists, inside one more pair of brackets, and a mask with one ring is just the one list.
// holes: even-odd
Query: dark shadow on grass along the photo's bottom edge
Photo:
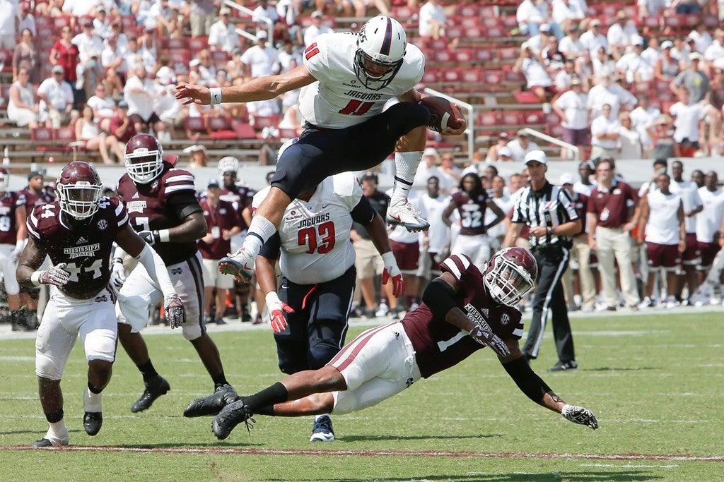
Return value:
[[(337, 482), (405, 482), (412, 480), (424, 481), (449, 481), (450, 475), (418, 475), (403, 478), (335, 478)], [(272, 480), (272, 479), (269, 479)], [(295, 479), (300, 482), (316, 482), (319, 478)], [(455, 481), (481, 481), (481, 482), (560, 482), (560, 481), (576, 481), (576, 482), (592, 482), (592, 481), (617, 481), (617, 482), (636, 482), (636, 481), (656, 481), (661, 480), (657, 475), (650, 475), (644, 470), (610, 470), (601, 472), (553, 472), (553, 473), (498, 473), (498, 474), (471, 474), (471, 475), (455, 475)]]

